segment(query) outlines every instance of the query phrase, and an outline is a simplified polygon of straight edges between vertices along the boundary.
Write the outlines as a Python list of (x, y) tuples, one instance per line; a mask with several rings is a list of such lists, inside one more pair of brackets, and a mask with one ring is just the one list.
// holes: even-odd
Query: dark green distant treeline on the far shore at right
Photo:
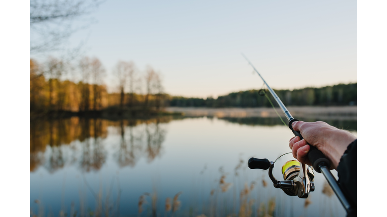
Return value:
[[(338, 84), (334, 86), (325, 86), (320, 88), (306, 87), (294, 90), (275, 90), (282, 102), (286, 105), (356, 105), (357, 83)], [(270, 97), (275, 106), (273, 96), (268, 90), (266, 94)], [(260, 90), (247, 90), (229, 93), (219, 96), (217, 99), (212, 97), (204, 98), (186, 98), (181, 96), (171, 97), (169, 106), (181, 107), (270, 107), (270, 101), (265, 95), (260, 95)]]

